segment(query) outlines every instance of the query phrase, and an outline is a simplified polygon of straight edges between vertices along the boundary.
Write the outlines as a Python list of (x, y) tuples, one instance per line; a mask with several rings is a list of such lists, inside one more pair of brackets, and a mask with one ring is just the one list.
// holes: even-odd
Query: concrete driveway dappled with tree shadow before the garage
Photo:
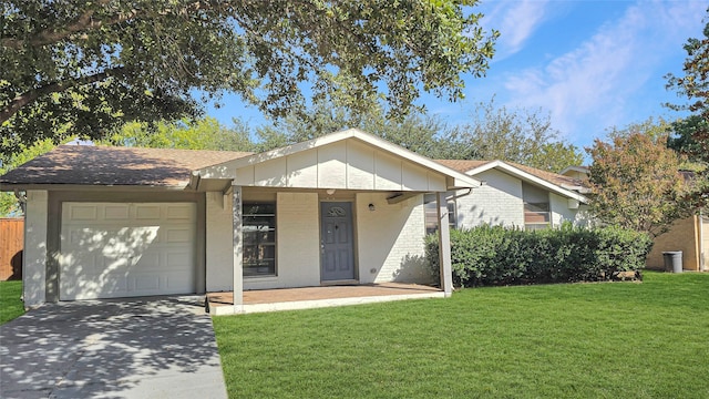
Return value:
[(226, 398), (201, 298), (48, 304), (0, 326), (2, 398)]

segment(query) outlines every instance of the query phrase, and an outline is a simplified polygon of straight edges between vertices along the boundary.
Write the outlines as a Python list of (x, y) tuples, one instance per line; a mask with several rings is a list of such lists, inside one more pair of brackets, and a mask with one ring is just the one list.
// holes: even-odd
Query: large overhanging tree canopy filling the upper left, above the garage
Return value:
[(405, 114), (421, 91), (463, 96), (496, 32), (466, 1), (18, 1), (0, 4), (0, 151), (100, 139), (125, 121), (196, 116), (239, 93), (264, 112), (304, 93)]

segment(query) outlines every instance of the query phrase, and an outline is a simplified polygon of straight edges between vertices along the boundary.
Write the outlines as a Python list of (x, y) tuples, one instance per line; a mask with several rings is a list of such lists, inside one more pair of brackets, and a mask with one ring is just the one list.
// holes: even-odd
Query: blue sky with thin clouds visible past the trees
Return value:
[[(681, 73), (682, 45), (700, 38), (709, 1), (483, 1), (474, 11), (501, 35), (487, 75), (466, 79), (465, 100), (454, 104), (424, 95), (418, 102), (449, 124), (464, 123), (475, 104), (549, 115), (552, 127), (578, 147), (649, 116), (679, 115), (661, 104), (680, 102), (665, 89), (668, 72)], [(225, 124), (249, 125), (263, 115), (236, 96), (208, 114)]]

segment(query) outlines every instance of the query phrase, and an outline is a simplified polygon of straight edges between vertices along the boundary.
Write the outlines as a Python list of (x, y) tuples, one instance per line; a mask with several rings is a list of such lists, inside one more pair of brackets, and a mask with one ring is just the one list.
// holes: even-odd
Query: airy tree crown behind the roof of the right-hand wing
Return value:
[(511, 161), (556, 173), (580, 165), (580, 150), (562, 140), (549, 116), (540, 112), (507, 110), (494, 99), (479, 103), (472, 120), (452, 134), (458, 142), (454, 157)]

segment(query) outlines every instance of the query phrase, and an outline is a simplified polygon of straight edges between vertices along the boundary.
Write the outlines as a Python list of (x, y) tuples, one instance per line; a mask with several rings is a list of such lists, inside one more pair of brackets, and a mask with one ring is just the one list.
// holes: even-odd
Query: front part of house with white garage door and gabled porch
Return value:
[(424, 195), (448, 221), (445, 193), (480, 185), (359, 130), (260, 154), (61, 145), (0, 177), (25, 202), (27, 307), (234, 291), (235, 313), (248, 289), (425, 283)]

